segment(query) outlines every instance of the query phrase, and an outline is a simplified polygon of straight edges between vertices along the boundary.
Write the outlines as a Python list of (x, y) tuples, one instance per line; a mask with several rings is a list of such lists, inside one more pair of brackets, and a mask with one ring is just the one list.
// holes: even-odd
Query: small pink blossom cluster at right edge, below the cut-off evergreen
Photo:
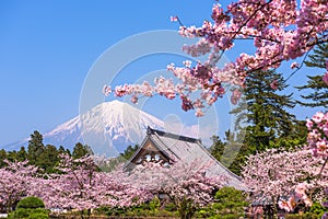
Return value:
[(328, 159), (328, 113), (316, 113), (306, 119), (307, 142), (315, 157)]

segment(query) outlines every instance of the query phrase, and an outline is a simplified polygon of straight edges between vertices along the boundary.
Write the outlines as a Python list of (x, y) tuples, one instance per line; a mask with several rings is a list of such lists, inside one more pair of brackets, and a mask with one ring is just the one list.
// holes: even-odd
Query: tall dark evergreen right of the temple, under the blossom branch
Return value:
[[(272, 82), (277, 89), (271, 88)], [(273, 70), (256, 71), (247, 76), (243, 91), (245, 97), (231, 113), (236, 114), (236, 123), (247, 124), (245, 142), (250, 152), (263, 150), (270, 141), (291, 135), (296, 119), (286, 108), (293, 108), (295, 103), (292, 94), (279, 93), (286, 87), (281, 73)]]

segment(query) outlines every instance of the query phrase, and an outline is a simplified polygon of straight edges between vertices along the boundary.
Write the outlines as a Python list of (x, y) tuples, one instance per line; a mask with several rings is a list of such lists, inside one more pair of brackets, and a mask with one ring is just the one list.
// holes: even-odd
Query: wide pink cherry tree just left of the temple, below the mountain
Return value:
[(126, 182), (126, 173), (97, 171), (92, 157), (72, 159), (63, 155), (61, 174), (38, 178), (28, 195), (40, 197), (47, 208), (93, 209), (101, 206), (124, 207), (144, 199), (141, 189)]

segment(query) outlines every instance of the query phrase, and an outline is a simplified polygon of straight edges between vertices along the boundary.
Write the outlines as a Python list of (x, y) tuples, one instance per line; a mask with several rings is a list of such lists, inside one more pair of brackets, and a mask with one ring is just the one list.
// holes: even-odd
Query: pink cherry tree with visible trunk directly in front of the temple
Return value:
[(181, 218), (191, 218), (198, 207), (213, 200), (213, 191), (227, 182), (223, 175), (206, 176), (210, 165), (199, 159), (176, 161), (166, 168), (147, 162), (132, 170), (129, 182), (153, 195), (167, 196), (178, 207)]

